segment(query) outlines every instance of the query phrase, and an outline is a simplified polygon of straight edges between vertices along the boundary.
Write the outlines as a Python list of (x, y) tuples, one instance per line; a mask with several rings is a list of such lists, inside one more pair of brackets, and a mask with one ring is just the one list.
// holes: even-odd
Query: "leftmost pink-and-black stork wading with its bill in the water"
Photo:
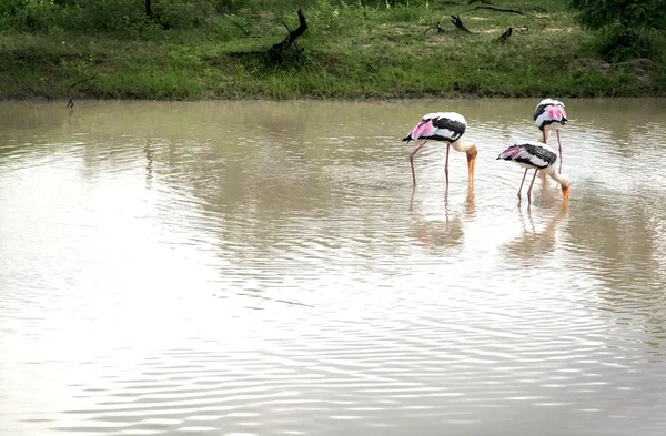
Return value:
[(425, 145), (427, 141), (446, 142), (446, 163), (444, 164), (444, 174), (446, 184), (448, 184), (448, 149), (453, 146), (455, 151), (467, 153), (467, 175), (470, 182), (474, 181), (474, 162), (478, 154), (475, 144), (463, 144), (461, 138), (467, 130), (467, 121), (463, 115), (456, 112), (435, 112), (423, 115), (418, 124), (412, 129), (403, 139), (410, 141), (422, 140), (423, 142), (410, 154), (410, 164), (412, 165), (412, 180), (416, 185), (416, 175), (414, 173), (414, 154)]

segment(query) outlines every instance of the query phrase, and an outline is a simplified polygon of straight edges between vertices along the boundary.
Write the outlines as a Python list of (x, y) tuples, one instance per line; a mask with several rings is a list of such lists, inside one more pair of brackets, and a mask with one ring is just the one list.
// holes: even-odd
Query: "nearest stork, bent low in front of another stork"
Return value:
[(541, 142), (523, 142), (514, 144), (500, 153), (497, 159), (513, 161), (525, 169), (525, 174), (523, 174), (523, 181), (518, 189), (518, 199), (521, 199), (521, 191), (523, 190), (523, 183), (525, 183), (527, 171), (534, 169), (534, 176), (532, 178), (529, 190), (527, 190), (528, 203), (532, 203), (532, 185), (534, 185), (534, 179), (536, 179), (536, 173), (539, 170), (559, 183), (562, 186), (562, 199), (565, 202), (568, 201), (568, 190), (572, 182), (566, 175), (559, 174), (555, 169), (557, 154), (555, 153), (555, 150), (551, 149), (548, 145)]

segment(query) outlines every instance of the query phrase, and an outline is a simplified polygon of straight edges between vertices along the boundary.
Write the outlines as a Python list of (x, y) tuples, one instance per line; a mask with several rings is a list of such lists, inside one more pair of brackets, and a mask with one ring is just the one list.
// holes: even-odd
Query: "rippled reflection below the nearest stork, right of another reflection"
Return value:
[(532, 209), (527, 209), (528, 226), (525, 223), (523, 210), (518, 209), (518, 211), (521, 214), (521, 223), (523, 224), (523, 234), (505, 245), (504, 249), (507, 255), (532, 261), (553, 252), (556, 247), (558, 231), (562, 230), (563, 225), (568, 223), (568, 203), (563, 203), (548, 224), (538, 232), (534, 225)]

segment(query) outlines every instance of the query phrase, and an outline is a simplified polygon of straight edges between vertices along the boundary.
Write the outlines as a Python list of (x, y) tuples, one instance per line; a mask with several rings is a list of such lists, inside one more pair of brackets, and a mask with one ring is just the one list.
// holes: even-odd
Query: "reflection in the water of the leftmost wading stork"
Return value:
[[(415, 189), (412, 190), (410, 212), (414, 203)], [(448, 187), (444, 191), (444, 220), (425, 220), (421, 214), (415, 223), (413, 236), (423, 245), (456, 247), (464, 241), (464, 223), (474, 216), (476, 204), (474, 202), (474, 182), (467, 185), (467, 195), (463, 210), (452, 213), (448, 204)]]

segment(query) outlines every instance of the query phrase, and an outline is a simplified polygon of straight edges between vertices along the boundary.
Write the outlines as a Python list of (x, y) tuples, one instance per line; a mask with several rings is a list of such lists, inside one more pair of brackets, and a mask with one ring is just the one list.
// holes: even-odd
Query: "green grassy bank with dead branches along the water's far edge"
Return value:
[[(481, 2), (304, 8), (302, 58), (271, 65), (295, 10), (239, 10), (191, 30), (0, 33), (0, 98), (292, 99), (666, 95), (666, 58), (608, 62), (565, 4)], [(501, 3), (501, 6), (500, 6)], [(457, 30), (460, 14), (471, 33)], [(441, 29), (428, 29), (440, 22)], [(514, 32), (504, 42), (498, 37)], [(658, 41), (655, 42), (658, 47)]]

